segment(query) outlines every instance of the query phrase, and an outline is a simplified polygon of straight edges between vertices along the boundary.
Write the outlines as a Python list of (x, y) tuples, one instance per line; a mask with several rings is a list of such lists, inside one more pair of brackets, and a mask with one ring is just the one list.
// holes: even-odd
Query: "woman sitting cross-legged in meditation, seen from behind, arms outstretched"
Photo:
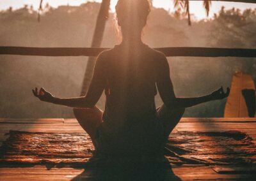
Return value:
[[(199, 98), (177, 98), (165, 55), (141, 41), (150, 4), (147, 0), (119, 0), (116, 19), (122, 43), (98, 57), (86, 96), (61, 99), (43, 88), (33, 94), (41, 101), (83, 112), (79, 124), (90, 135), (97, 152), (107, 155), (159, 155), (185, 108), (227, 98), (221, 87)], [(106, 94), (102, 113), (95, 104)], [(159, 92), (163, 105), (156, 109)]]

